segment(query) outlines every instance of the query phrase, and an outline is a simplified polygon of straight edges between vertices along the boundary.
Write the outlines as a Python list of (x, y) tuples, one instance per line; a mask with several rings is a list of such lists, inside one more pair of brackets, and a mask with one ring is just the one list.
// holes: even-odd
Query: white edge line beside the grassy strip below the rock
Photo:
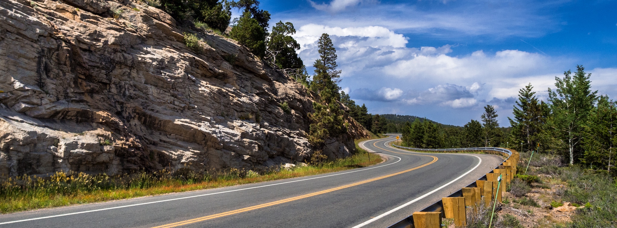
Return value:
[[(381, 139), (376, 139), (376, 140), (381, 140)], [(362, 146), (364, 146), (364, 143), (366, 143), (367, 141), (373, 141), (373, 140), (363, 141), (362, 142)], [(367, 149), (369, 151), (372, 151), (371, 149), (368, 149), (368, 148), (365, 148), (365, 149)], [(373, 152), (375, 152), (375, 151), (373, 151)], [(390, 156), (392, 156), (392, 155), (390, 155)], [(396, 156), (392, 156), (392, 157), (396, 157)], [(400, 157), (396, 157), (396, 158), (398, 158), (399, 160), (397, 160), (396, 162), (392, 162), (392, 163), (386, 164), (386, 165), (392, 165), (392, 164), (400, 162), (400, 160), (402, 160)], [(33, 220), (38, 220), (38, 219), (55, 218), (55, 217), (60, 217), (60, 216), (73, 215), (73, 214), (83, 214), (83, 213), (90, 213), (90, 212), (96, 212), (96, 211), (106, 211), (106, 210), (112, 210), (112, 209), (118, 209), (118, 208), (126, 208), (126, 207), (129, 207), (129, 206), (139, 206), (139, 205), (147, 205), (147, 204), (151, 204), (151, 203), (162, 203), (162, 202), (168, 202), (168, 201), (173, 201), (173, 200), (183, 200), (183, 199), (189, 199), (189, 198), (194, 198), (194, 197), (202, 197), (202, 196), (206, 196), (206, 195), (215, 195), (215, 194), (223, 194), (223, 193), (227, 193), (227, 192), (243, 191), (243, 190), (248, 190), (248, 189), (257, 189), (259, 187), (269, 187), (269, 186), (275, 186), (275, 185), (279, 185), (279, 184), (288, 184), (288, 183), (294, 183), (294, 182), (299, 182), (299, 181), (308, 181), (310, 179), (327, 178), (329, 176), (337, 176), (337, 175), (344, 175), (344, 174), (347, 174), (347, 173), (355, 173), (357, 171), (371, 170), (373, 168), (384, 167), (386, 165), (380, 165), (378, 167), (365, 168), (363, 170), (349, 171), (349, 172), (346, 172), (346, 173), (337, 173), (337, 174), (328, 175), (328, 176), (318, 176), (316, 178), (299, 179), (299, 180), (296, 180), (296, 181), (288, 181), (288, 182), (284, 182), (284, 183), (268, 184), (268, 185), (256, 186), (256, 187), (247, 187), (245, 189), (236, 189), (236, 190), (224, 191), (224, 192), (214, 192), (214, 193), (209, 193), (209, 194), (193, 195), (193, 196), (189, 196), (189, 197), (181, 197), (181, 198), (168, 199), (168, 200), (159, 200), (159, 201), (147, 202), (147, 203), (136, 203), (136, 204), (124, 205), (124, 206), (114, 206), (114, 207), (111, 207), (111, 208), (101, 208), (101, 209), (97, 209), (97, 210), (79, 211), (79, 212), (73, 212), (73, 213), (67, 213), (67, 214), (56, 214), (56, 215), (52, 215), (52, 216), (44, 216), (44, 217), (31, 218), (31, 219), (22, 219), (22, 220), (17, 220), (17, 221), (0, 222), (0, 225), (10, 224), (10, 223), (15, 223), (15, 222), (33, 221)]]

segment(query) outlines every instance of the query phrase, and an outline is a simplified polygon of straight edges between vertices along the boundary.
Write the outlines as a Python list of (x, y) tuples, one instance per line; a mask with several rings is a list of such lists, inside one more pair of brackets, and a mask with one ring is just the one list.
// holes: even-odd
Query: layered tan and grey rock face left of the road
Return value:
[[(254, 168), (312, 154), (312, 96), (143, 2), (0, 0), (0, 176)], [(291, 112), (280, 104), (287, 102)], [(349, 133), (328, 140), (349, 155)]]

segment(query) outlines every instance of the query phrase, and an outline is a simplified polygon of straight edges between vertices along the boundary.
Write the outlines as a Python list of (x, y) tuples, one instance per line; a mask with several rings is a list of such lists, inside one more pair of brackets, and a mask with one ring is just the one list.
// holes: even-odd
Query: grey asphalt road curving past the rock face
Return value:
[(393, 137), (360, 143), (387, 158), (372, 167), (3, 214), (0, 227), (387, 227), (503, 160), (489, 154), (404, 151), (387, 146)]

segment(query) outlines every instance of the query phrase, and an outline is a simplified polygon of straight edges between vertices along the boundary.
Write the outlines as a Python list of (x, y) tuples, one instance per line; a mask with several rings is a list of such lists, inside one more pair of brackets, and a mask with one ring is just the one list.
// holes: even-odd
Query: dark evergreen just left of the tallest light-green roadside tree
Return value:
[(532, 88), (528, 84), (518, 91), (518, 101), (513, 109), (514, 119), (508, 117), (512, 126), (511, 142), (523, 143), (526, 151), (536, 149), (542, 141), (542, 130), (547, 120), (546, 104), (537, 100), (534, 95), (536, 92), (531, 92)]

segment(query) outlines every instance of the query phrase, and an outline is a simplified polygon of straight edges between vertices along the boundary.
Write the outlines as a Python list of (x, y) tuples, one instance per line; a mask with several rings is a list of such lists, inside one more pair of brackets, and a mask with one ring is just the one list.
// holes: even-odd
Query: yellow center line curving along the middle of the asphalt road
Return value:
[(425, 167), (427, 165), (431, 165), (432, 163), (434, 163), (434, 162), (436, 162), (438, 160), (437, 157), (434, 157), (434, 156), (431, 156), (431, 155), (425, 155), (425, 156), (433, 157), (433, 160), (431, 162), (429, 162), (429, 163), (424, 164), (424, 165), (420, 165), (419, 167), (410, 168), (408, 170), (400, 171), (398, 173), (392, 173), (390, 175), (379, 176), (378, 178), (367, 179), (366, 181), (360, 181), (360, 182), (353, 183), (353, 184), (347, 184), (347, 185), (340, 186), (340, 187), (334, 187), (332, 189), (326, 189), (324, 191), (313, 192), (313, 193), (310, 193), (310, 194), (300, 195), (300, 196), (297, 196), (297, 197), (291, 197), (291, 198), (283, 199), (283, 200), (277, 200), (275, 202), (263, 203), (263, 204), (260, 204), (260, 205), (249, 206), (247, 208), (241, 208), (241, 209), (238, 209), (238, 210), (227, 211), (227, 212), (218, 213), (218, 214), (212, 214), (212, 215), (209, 215), (209, 216), (189, 219), (189, 220), (180, 221), (180, 222), (173, 222), (173, 223), (170, 223), (170, 224), (165, 224), (163, 226), (157, 226), (157, 227), (152, 227), (152, 228), (167, 228), (167, 227), (183, 226), (183, 225), (191, 224), (191, 223), (194, 223), (194, 222), (206, 221), (206, 220), (209, 220), (209, 219), (220, 218), (220, 217), (228, 216), (228, 215), (231, 215), (231, 214), (238, 214), (238, 213), (242, 213), (242, 212), (246, 212), (246, 211), (257, 210), (259, 208), (265, 208), (267, 206), (274, 206), (274, 205), (279, 205), (281, 203), (292, 202), (294, 200), (305, 199), (305, 198), (312, 197), (312, 196), (315, 196), (315, 195), (321, 195), (321, 194), (325, 194), (325, 193), (328, 193), (328, 192), (334, 192), (334, 191), (337, 191), (337, 190), (346, 189), (347, 187), (358, 186), (360, 184), (365, 184), (365, 183), (373, 182), (373, 181), (376, 181), (376, 180), (379, 180), (379, 179), (389, 178), (391, 176), (396, 176), (396, 175), (399, 175), (401, 173), (407, 173), (408, 171), (416, 170), (418, 168), (422, 168), (422, 167)]

